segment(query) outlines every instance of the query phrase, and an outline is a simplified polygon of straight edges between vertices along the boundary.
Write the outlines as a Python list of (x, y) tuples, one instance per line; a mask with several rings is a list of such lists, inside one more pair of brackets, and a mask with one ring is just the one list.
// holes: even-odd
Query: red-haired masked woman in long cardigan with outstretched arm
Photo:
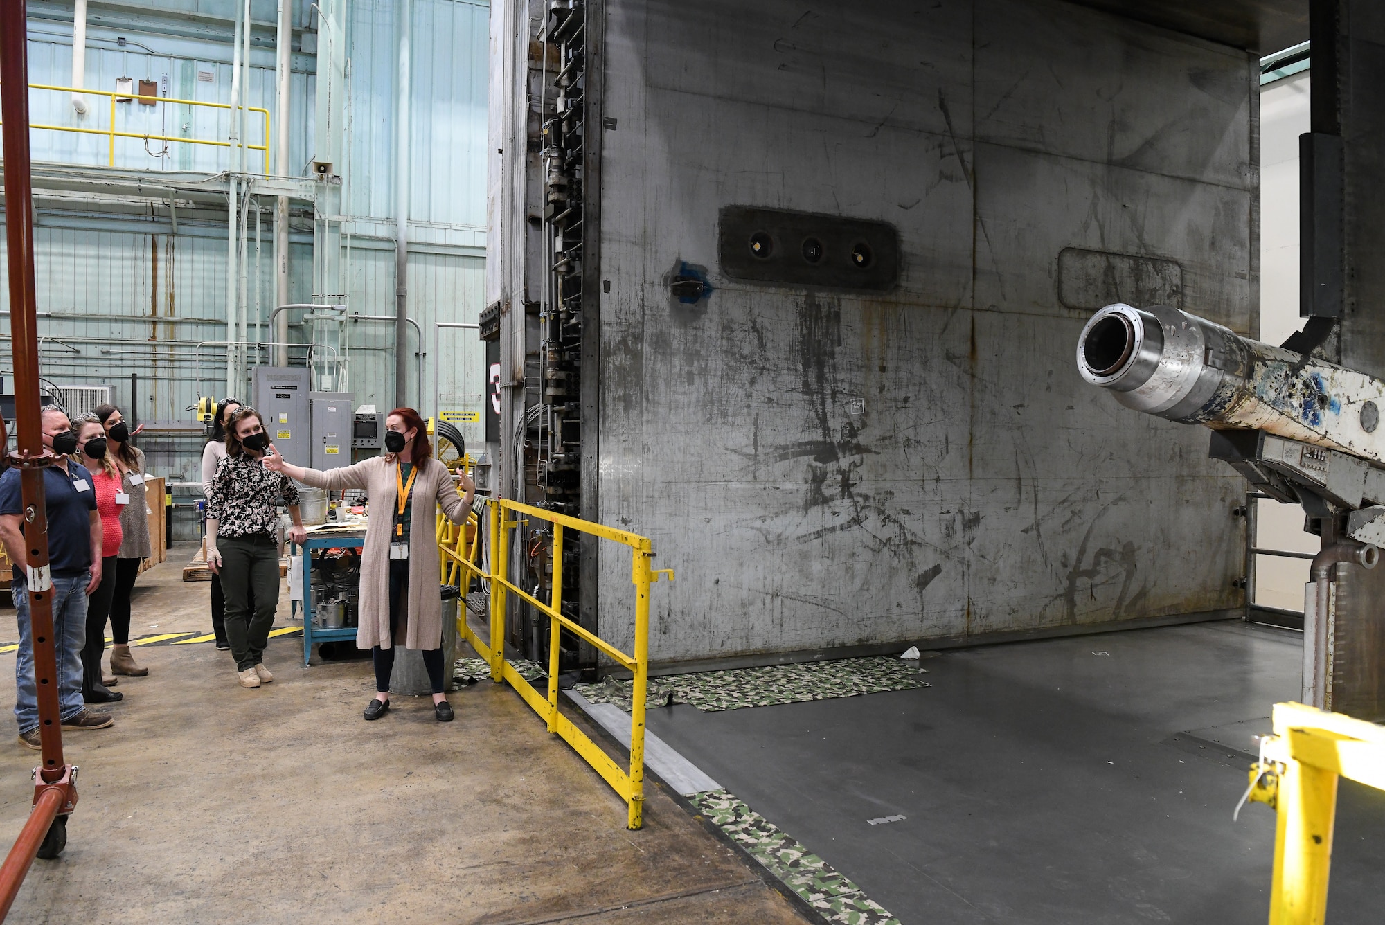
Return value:
[(422, 652), (434, 713), (439, 723), (449, 723), (434, 512), (440, 505), (453, 523), (464, 522), (476, 486), (463, 474), (467, 496), (457, 493), (452, 472), (432, 456), (427, 424), (413, 408), (395, 408), (385, 418), (385, 456), (325, 472), (291, 465), (277, 453), (265, 465), (314, 487), (366, 492), (370, 523), (360, 554), (356, 627), (356, 647), (370, 649), (375, 665), (375, 698), (366, 719), (378, 720), (389, 710), (389, 674), (395, 645), (402, 644)]

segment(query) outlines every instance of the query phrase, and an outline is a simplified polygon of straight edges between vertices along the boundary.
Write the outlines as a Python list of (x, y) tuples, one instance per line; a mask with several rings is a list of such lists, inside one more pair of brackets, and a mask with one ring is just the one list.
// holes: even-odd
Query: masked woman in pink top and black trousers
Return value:
[(125, 697), (101, 683), (101, 652), (105, 651), (105, 622), (111, 616), (111, 598), (115, 594), (115, 559), (123, 540), (120, 508), (130, 503), (130, 496), (125, 493), (120, 468), (107, 449), (101, 420), (94, 414), (86, 414), (76, 422), (76, 429), (79, 461), (91, 472), (102, 535), (101, 584), (87, 598), (87, 641), (82, 647), (82, 699), (87, 703), (109, 703)]

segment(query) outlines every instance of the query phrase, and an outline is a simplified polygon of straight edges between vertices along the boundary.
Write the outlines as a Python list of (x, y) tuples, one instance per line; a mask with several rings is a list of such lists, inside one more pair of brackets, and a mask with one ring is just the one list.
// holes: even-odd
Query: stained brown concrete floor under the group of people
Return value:
[[(208, 586), (180, 577), (191, 551), (140, 579), (132, 636), (209, 629)], [(122, 679), (115, 726), (65, 737), (82, 767), (68, 849), (35, 861), (8, 921), (805, 921), (658, 785), (627, 831), (625, 805), (508, 688), (453, 694), (452, 724), (428, 698), (366, 723), (370, 663), (303, 669), (301, 647), (270, 643), (260, 690), (209, 643), (137, 648), (151, 673)], [(4, 703), (12, 666), (0, 655)], [(6, 846), (37, 763), (8, 728)]]

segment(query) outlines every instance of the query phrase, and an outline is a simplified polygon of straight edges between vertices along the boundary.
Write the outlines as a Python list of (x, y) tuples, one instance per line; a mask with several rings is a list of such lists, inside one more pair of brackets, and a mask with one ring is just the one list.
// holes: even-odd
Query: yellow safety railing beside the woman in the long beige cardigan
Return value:
[[(587, 764), (590, 764), (611, 788), (619, 793), (627, 807), (626, 824), (640, 828), (644, 823), (644, 701), (650, 677), (650, 586), (668, 576), (673, 580), (673, 569), (652, 569), (652, 543), (645, 536), (590, 523), (575, 517), (544, 511), (529, 504), (508, 499), (492, 499), (489, 511), (489, 569), (476, 564), (479, 537), (465, 550), (465, 530), (449, 530), (439, 523), (438, 546), (443, 558), (464, 573), (474, 575), (490, 583), (490, 641), (479, 638), (467, 625), (465, 608), (457, 619), (457, 629), (472, 648), (490, 665), (490, 679), (508, 683), (533, 710), (548, 723), (548, 731), (561, 735)], [(547, 602), (533, 597), (508, 577), (510, 530), (528, 521), (544, 521), (553, 528), (553, 589)], [(611, 540), (630, 547), (630, 579), (634, 582), (634, 651), (622, 652), (596, 636), (576, 620), (562, 613), (562, 544), (566, 530), (576, 530), (602, 540)], [(479, 525), (478, 525), (479, 533)], [(443, 572), (445, 577), (449, 573)], [(450, 582), (449, 582), (450, 583)], [(465, 593), (465, 589), (463, 589)], [(548, 638), (548, 690), (547, 697), (533, 688), (506, 661), (506, 600), (515, 594), (521, 601), (539, 609), (550, 618)], [(594, 647), (616, 665), (634, 676), (634, 690), (630, 702), (630, 769), (626, 771), (602, 752), (596, 742), (579, 730), (558, 710), (558, 641), (562, 630)]]

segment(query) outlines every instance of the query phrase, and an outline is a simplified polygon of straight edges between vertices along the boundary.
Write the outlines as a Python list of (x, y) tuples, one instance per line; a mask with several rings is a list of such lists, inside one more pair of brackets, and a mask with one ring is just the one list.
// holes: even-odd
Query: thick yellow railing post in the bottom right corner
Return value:
[(1278, 811), (1270, 925), (1321, 925), (1337, 818), (1337, 778), (1385, 791), (1385, 728), (1302, 703), (1274, 705), (1248, 798)]

